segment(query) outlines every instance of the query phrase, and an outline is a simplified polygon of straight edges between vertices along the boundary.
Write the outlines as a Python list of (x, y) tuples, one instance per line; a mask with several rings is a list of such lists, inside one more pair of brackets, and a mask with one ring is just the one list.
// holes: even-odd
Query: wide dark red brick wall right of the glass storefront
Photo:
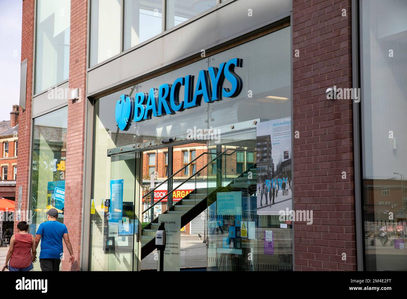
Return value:
[(352, 101), (325, 94), (352, 87), (350, 4), (293, 1), (294, 210), (314, 213), (294, 225), (296, 271), (356, 270)]

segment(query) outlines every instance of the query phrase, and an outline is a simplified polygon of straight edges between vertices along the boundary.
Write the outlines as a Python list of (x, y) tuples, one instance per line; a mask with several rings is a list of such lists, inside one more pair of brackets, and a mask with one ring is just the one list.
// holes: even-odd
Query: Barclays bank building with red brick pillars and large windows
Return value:
[[(406, 3), (214, 0), (203, 9), (199, 2), (23, 1), (25, 92), (12, 117), (20, 128), (16, 188), (22, 210), (34, 212), (30, 232), (55, 205), (77, 258), (63, 260), (62, 270), (154, 267), (157, 223), (144, 221), (149, 207), (140, 198), (154, 173), (152, 185), (163, 183), (155, 200), (189, 180), (179, 188), (188, 194), (174, 194), (177, 204), (162, 202), (161, 211), (180, 214), (184, 234), (199, 223), (207, 238), (206, 247), (183, 249), (196, 253), (181, 268), (224, 270), (222, 261), (233, 258), (227, 270), (406, 270)], [(134, 100), (154, 88), (161, 93), (144, 104), (161, 115), (132, 122), (139, 115), (124, 115), (121, 96), (141, 110)], [(185, 133), (197, 127), (219, 130), (219, 139), (191, 140)], [(4, 166), (14, 151), (7, 138)], [(207, 165), (213, 155), (221, 157)], [(185, 165), (169, 179), (168, 169)], [(277, 187), (271, 204), (279, 179), (289, 179), (290, 190)], [(102, 207), (117, 180), (122, 205)], [(233, 195), (229, 207), (222, 194)], [(312, 223), (281, 221), (286, 209), (312, 211)], [(119, 225), (139, 225), (140, 235), (119, 234)]]

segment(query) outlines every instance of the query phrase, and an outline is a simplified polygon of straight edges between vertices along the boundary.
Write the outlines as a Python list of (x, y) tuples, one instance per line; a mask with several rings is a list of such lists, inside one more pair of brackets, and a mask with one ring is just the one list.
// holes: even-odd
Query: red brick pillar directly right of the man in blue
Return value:
[(68, 261), (64, 247), (63, 271), (78, 271), (81, 258), (81, 223), (83, 199), (83, 165), (85, 155), (85, 107), (87, 69), (88, 0), (71, 1), (69, 88), (79, 89), (79, 100), (68, 103), (68, 134), (66, 149), (66, 196), (64, 223), (77, 260)]

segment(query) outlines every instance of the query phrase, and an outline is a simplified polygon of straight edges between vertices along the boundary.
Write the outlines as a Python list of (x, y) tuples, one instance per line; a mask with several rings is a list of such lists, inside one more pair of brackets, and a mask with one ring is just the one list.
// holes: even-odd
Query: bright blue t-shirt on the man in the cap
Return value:
[(46, 221), (39, 225), (37, 235), (42, 236), (40, 259), (61, 258), (63, 234), (68, 234), (68, 229), (65, 224), (58, 221)]

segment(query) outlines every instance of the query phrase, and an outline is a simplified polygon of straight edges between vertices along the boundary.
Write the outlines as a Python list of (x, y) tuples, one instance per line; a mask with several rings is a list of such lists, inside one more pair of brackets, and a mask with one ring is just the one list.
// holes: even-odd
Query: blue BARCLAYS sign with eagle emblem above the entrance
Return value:
[[(195, 76), (187, 75), (175, 79), (173, 84), (162, 84), (158, 88), (150, 88), (149, 93), (138, 92), (134, 99), (122, 94), (116, 103), (116, 123), (120, 130), (127, 130), (131, 121), (141, 122), (166, 114), (175, 114), (205, 103), (234, 98), (243, 87), (242, 79), (234, 72), (234, 68), (243, 67), (243, 59), (233, 58), (219, 64), (219, 68), (210, 67), (199, 71), (197, 84), (193, 90)], [(231, 88), (223, 87), (228, 80)], [(184, 101), (179, 102), (179, 89), (184, 86)]]

